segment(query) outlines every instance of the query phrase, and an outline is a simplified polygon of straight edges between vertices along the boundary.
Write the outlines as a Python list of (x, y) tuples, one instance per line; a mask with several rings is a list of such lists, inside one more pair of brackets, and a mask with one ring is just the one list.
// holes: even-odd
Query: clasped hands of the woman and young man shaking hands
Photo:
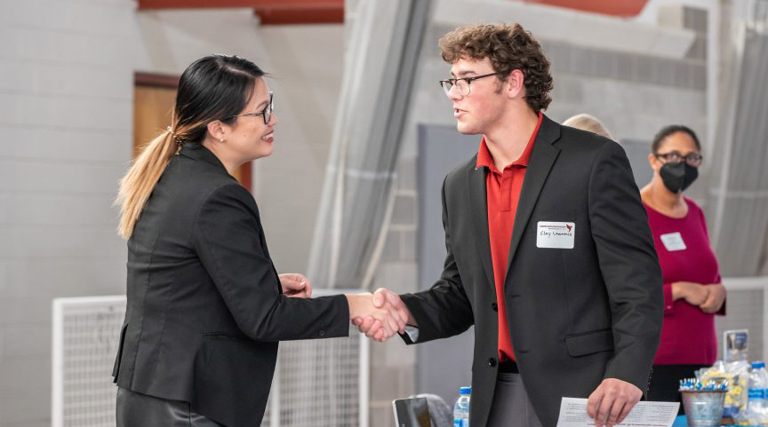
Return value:
[(383, 343), (406, 326), (417, 326), (408, 307), (395, 292), (380, 288), (375, 292), (346, 295), (349, 320), (365, 336)]

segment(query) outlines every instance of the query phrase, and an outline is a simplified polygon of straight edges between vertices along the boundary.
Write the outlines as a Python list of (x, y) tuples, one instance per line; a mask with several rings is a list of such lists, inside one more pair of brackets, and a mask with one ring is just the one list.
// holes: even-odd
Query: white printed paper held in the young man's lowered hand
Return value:
[[(671, 427), (675, 423), (679, 402), (637, 402), (623, 423), (616, 427)], [(594, 427), (587, 415), (587, 399), (563, 398), (557, 427)]]

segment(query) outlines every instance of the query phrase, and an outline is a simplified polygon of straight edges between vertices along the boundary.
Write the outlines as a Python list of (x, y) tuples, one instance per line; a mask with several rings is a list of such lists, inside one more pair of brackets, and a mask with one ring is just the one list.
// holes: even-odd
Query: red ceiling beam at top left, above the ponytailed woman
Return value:
[(344, 22), (344, 0), (139, 0), (140, 11), (230, 7), (253, 9), (265, 25)]

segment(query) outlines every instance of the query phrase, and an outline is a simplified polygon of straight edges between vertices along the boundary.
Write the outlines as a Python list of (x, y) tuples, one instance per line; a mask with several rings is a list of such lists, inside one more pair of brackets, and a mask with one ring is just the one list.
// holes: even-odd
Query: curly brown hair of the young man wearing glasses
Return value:
[(513, 70), (524, 75), (525, 101), (536, 113), (546, 109), (552, 98), (552, 75), (549, 59), (541, 45), (520, 24), (481, 24), (460, 27), (440, 38), (443, 60), (491, 59), (493, 71), (500, 80)]

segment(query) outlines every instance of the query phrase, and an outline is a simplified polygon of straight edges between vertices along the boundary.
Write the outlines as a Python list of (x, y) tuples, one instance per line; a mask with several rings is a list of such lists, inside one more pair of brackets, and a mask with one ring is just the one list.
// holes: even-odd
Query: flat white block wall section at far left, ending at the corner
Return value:
[(50, 425), (51, 301), (118, 294), (131, 150), (124, 0), (0, 4), (0, 426)]

